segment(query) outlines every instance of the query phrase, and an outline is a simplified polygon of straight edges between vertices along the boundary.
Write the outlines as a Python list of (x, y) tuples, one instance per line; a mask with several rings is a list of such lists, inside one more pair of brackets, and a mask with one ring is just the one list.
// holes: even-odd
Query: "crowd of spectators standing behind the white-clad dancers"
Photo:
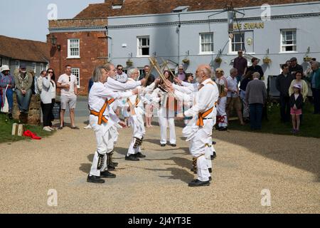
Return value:
[[(247, 59), (243, 56), (242, 50), (238, 51), (238, 58), (233, 62), (233, 68), (230, 74), (225, 75), (221, 68), (215, 69), (214, 81), (219, 88), (219, 100), (217, 106), (217, 128), (218, 130), (228, 130), (230, 118), (235, 110), (240, 125), (250, 123), (252, 130), (262, 128), (262, 116), (266, 115), (267, 105), (267, 88), (262, 81), (264, 72), (259, 65), (257, 58), (252, 58), (252, 65), (248, 67)], [(280, 118), (283, 123), (292, 121), (292, 133), (299, 132), (299, 126), (302, 123), (304, 103), (309, 94), (309, 84), (312, 90), (314, 100), (314, 114), (320, 114), (320, 69), (316, 59), (310, 62), (310, 67), (303, 71), (301, 65), (297, 63), (297, 58), (293, 57), (286, 63), (282, 64), (282, 73), (277, 76), (276, 88), (279, 91)], [(53, 107), (55, 105), (56, 91), (60, 89), (60, 125), (58, 129), (64, 128), (65, 110), (70, 110), (71, 128), (78, 130), (75, 125), (75, 108), (78, 95), (78, 81), (76, 76), (71, 73), (71, 66), (65, 66), (65, 73), (59, 78), (55, 78), (53, 68), (41, 71), (40, 76), (33, 77), (26, 71), (26, 65), (21, 66), (16, 74), (11, 74), (9, 66), (1, 66), (0, 72), (0, 106), (1, 112), (8, 113), (12, 118), (14, 107), (14, 93), (18, 110), (21, 115), (28, 115), (31, 95), (36, 93), (41, 97), (41, 110), (43, 113), (43, 130), (53, 131), (52, 121)], [(151, 73), (150, 66), (144, 66), (144, 72), (139, 76), (139, 81), (146, 78), (144, 86), (150, 86), (156, 80)], [(122, 65), (116, 68), (115, 80), (119, 83), (127, 83), (128, 75)], [(186, 73), (183, 66), (178, 66), (178, 73), (173, 75), (169, 71), (164, 72), (171, 82), (176, 83), (174, 78), (183, 83), (195, 83), (193, 73)], [(57, 81), (56, 81), (57, 79)], [(92, 80), (89, 82), (89, 91), (92, 86)], [(151, 92), (150, 94), (151, 95)], [(115, 113), (124, 117), (125, 123), (129, 125), (129, 113), (127, 112), (126, 100), (121, 101)], [(182, 113), (188, 110), (182, 105)], [(152, 117), (154, 105), (144, 104), (144, 121), (146, 128), (152, 128)], [(177, 112), (174, 113), (178, 115)], [(171, 121), (172, 122), (172, 121)], [(174, 126), (174, 123), (169, 126)], [(167, 128), (167, 125), (165, 125)], [(86, 128), (90, 128), (87, 126)], [(162, 143), (164, 144), (164, 142)], [(171, 142), (175, 144), (174, 141)]]

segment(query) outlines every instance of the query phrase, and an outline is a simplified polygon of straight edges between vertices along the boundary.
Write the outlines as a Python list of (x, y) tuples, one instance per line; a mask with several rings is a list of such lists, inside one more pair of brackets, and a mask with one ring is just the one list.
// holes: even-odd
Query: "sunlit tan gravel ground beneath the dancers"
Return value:
[[(320, 140), (216, 132), (218, 157), (210, 187), (191, 188), (191, 155), (177, 128), (178, 147), (159, 146), (147, 131), (140, 162), (124, 160), (131, 129), (122, 130), (116, 179), (86, 182), (92, 130), (64, 128), (41, 141), (0, 144), (0, 213), (320, 213)], [(48, 190), (58, 192), (49, 207)], [(262, 207), (261, 191), (271, 193)]]

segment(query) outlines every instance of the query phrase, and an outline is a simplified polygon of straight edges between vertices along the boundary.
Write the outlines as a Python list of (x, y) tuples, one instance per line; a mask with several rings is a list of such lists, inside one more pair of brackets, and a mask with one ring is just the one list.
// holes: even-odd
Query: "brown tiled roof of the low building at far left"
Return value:
[(0, 56), (46, 63), (49, 60), (49, 46), (41, 41), (0, 36)]

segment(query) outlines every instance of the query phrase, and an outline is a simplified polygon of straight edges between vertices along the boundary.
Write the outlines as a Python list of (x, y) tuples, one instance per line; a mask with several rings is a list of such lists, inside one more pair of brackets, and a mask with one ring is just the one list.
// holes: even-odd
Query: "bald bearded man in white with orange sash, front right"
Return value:
[(193, 167), (197, 170), (198, 179), (189, 183), (190, 187), (210, 185), (210, 173), (206, 154), (208, 154), (208, 145), (213, 129), (213, 117), (215, 103), (218, 101), (218, 87), (211, 81), (211, 69), (208, 65), (198, 66), (196, 79), (199, 83), (196, 95), (182, 93), (172, 86), (169, 91), (174, 92), (179, 100), (192, 102), (192, 108), (185, 112), (186, 116), (192, 116), (193, 119), (183, 129), (183, 136), (190, 141), (189, 150), (193, 156)]

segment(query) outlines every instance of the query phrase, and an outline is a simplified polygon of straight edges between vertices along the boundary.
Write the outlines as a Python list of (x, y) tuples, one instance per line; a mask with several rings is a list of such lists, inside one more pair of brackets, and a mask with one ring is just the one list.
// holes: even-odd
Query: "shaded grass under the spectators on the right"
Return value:
[[(311, 103), (306, 101), (304, 108), (302, 110), (303, 120), (300, 126), (300, 132), (295, 134), (301, 137), (313, 137), (320, 138), (320, 115), (313, 114), (314, 108)], [(250, 132), (261, 132), (261, 133), (271, 133), (277, 135), (292, 135), (290, 131), (292, 130), (292, 123), (281, 123), (280, 121), (280, 108), (277, 103), (273, 103), (272, 106), (268, 107), (268, 118), (269, 120), (262, 121), (262, 130), (251, 130), (250, 123), (245, 126), (240, 125), (238, 119), (232, 120), (229, 123), (230, 130), (245, 130)]]

